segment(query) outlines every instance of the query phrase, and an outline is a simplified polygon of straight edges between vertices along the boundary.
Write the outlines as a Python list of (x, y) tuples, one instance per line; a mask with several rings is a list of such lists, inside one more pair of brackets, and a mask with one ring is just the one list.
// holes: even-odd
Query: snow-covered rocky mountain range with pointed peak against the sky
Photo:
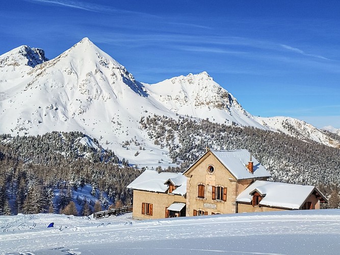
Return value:
[[(339, 146), (304, 121), (254, 117), (206, 72), (156, 84), (140, 83), (88, 38), (47, 60), (44, 51), (21, 46), (0, 56), (0, 133), (37, 135), (81, 131), (134, 164), (172, 161), (140, 129), (143, 116), (178, 115), (280, 131)], [(99, 138), (100, 137), (100, 138)], [(134, 141), (129, 147), (126, 141)], [(143, 157), (136, 151), (145, 147)]]

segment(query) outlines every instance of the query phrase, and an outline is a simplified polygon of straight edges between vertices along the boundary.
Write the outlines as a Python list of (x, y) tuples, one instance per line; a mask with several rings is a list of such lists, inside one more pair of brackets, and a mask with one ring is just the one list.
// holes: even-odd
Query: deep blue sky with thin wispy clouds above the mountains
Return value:
[(51, 59), (89, 37), (140, 82), (207, 71), (253, 115), (340, 129), (339, 11), (312, 0), (4, 1), (0, 55), (29, 45)]

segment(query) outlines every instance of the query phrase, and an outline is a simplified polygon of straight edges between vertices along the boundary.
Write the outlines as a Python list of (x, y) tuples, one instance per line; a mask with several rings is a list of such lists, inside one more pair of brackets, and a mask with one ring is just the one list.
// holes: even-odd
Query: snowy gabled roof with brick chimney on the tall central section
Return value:
[(200, 157), (194, 164), (192, 164), (185, 173), (189, 172), (190, 169), (198, 162), (201, 158), (205, 157), (208, 153), (212, 153), (223, 165), (229, 170), (229, 172), (237, 179), (256, 179), (261, 177), (271, 177), (271, 174), (261, 165), (254, 157), (253, 162), (253, 173), (248, 171), (246, 165), (250, 160), (250, 152), (246, 149), (235, 149), (235, 150), (208, 150), (202, 157)]

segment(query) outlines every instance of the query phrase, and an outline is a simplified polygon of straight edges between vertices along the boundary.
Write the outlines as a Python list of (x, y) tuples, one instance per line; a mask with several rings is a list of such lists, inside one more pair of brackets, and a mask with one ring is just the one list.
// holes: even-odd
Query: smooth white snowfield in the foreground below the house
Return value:
[[(55, 214), (0, 217), (0, 254), (338, 254), (340, 210), (134, 221)], [(54, 222), (53, 228), (47, 228)]]

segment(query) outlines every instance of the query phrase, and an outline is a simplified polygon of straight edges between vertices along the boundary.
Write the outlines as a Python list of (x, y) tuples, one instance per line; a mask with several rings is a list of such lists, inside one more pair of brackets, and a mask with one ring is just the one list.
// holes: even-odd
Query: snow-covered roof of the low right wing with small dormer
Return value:
[(299, 209), (315, 190), (323, 197), (314, 186), (255, 181), (238, 195), (236, 201), (251, 202), (252, 194), (257, 192), (263, 196), (260, 206)]

